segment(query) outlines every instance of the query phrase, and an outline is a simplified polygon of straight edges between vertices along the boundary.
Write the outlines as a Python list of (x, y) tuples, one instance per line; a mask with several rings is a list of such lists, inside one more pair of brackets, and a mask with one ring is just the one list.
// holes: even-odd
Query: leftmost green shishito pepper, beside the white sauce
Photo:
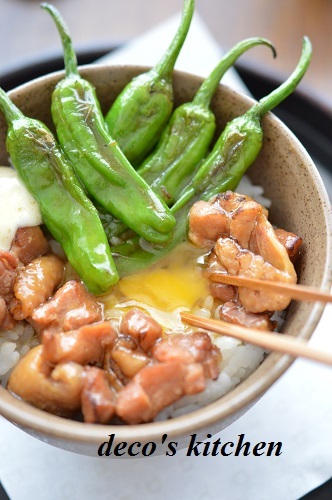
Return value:
[(98, 212), (50, 130), (25, 117), (0, 89), (8, 124), (6, 146), (15, 169), (37, 201), (42, 219), (88, 290), (107, 292), (118, 279)]

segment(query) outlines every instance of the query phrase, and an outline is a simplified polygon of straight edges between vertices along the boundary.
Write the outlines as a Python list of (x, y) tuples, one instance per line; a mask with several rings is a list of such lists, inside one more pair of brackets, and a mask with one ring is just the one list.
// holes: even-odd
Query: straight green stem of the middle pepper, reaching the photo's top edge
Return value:
[(175, 37), (173, 38), (167, 51), (153, 69), (153, 71), (158, 73), (160, 76), (168, 76), (172, 72), (182, 45), (184, 44), (188, 34), (194, 10), (195, 0), (185, 0), (180, 26), (178, 27)]

